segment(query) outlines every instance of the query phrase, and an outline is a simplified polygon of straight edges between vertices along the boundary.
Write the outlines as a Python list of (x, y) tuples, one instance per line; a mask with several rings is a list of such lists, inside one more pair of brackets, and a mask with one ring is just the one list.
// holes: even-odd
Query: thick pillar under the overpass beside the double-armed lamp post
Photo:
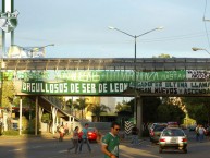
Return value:
[(143, 98), (136, 98), (136, 126), (139, 129), (139, 136), (143, 136)]

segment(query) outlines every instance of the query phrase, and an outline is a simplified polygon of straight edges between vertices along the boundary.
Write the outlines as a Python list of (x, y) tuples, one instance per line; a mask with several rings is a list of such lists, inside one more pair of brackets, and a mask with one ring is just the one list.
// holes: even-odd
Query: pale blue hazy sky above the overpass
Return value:
[[(14, 0), (20, 12), (14, 44), (46, 48), (47, 58), (137, 58), (166, 53), (209, 58), (210, 0)], [(207, 34), (208, 33), (208, 34)]]

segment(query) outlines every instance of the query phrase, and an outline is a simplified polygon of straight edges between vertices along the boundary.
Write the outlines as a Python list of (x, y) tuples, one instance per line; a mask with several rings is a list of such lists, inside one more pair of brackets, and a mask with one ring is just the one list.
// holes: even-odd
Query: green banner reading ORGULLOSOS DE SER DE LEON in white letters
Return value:
[(129, 86), (128, 82), (23, 82), (22, 93), (49, 95), (116, 95)]

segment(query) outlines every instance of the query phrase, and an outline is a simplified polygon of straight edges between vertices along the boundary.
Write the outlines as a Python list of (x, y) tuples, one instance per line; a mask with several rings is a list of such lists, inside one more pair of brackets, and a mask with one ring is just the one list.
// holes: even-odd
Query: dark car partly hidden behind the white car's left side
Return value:
[(158, 143), (161, 132), (168, 126), (165, 123), (156, 124), (150, 131), (150, 142)]

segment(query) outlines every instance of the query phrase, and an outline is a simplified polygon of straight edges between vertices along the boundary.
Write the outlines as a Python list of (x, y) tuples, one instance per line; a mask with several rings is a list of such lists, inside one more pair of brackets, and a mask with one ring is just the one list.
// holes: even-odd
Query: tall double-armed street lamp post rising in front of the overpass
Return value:
[[(136, 39), (138, 38), (138, 37), (140, 37), (140, 36), (144, 36), (144, 35), (146, 35), (146, 34), (149, 34), (149, 33), (151, 33), (151, 32), (155, 32), (155, 31), (158, 31), (158, 29), (162, 29), (163, 27), (156, 27), (156, 28), (153, 28), (153, 29), (150, 29), (150, 31), (148, 31), (148, 32), (145, 32), (145, 33), (143, 33), (143, 34), (140, 34), (140, 35), (131, 35), (131, 34), (128, 34), (128, 33), (126, 33), (126, 32), (124, 32), (124, 31), (121, 31), (121, 29), (119, 29), (119, 28), (116, 28), (116, 27), (112, 27), (112, 26), (109, 26), (109, 28), (110, 29), (115, 29), (115, 31), (118, 31), (118, 32), (120, 32), (120, 33), (123, 33), (123, 34), (125, 34), (125, 35), (127, 35), (127, 36), (129, 36), (129, 37), (132, 37), (132, 38), (134, 38), (134, 88), (135, 88), (135, 99), (134, 99), (134, 121), (135, 121), (135, 123), (137, 123), (137, 92), (136, 92), (136, 89), (137, 89), (137, 75), (136, 75)], [(138, 125), (138, 124), (137, 124)]]

